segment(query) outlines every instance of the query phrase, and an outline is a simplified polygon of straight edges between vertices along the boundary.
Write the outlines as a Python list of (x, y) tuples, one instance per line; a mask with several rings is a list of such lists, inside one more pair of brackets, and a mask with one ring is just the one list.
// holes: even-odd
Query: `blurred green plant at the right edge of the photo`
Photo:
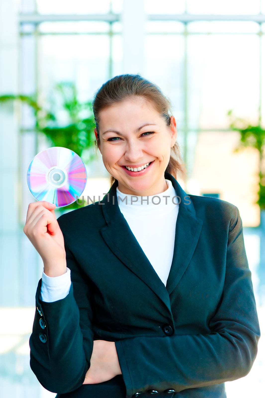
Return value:
[[(232, 110), (227, 113), (232, 117)], [(240, 127), (241, 125), (241, 127)], [(258, 200), (255, 202), (261, 210), (265, 210), (265, 170), (263, 169), (263, 155), (265, 148), (265, 130), (259, 125), (249, 125), (247, 121), (241, 118), (234, 118), (230, 123), (230, 128), (240, 133), (240, 145), (235, 148), (234, 152), (238, 152), (241, 148), (251, 147), (259, 151), (259, 189)]]

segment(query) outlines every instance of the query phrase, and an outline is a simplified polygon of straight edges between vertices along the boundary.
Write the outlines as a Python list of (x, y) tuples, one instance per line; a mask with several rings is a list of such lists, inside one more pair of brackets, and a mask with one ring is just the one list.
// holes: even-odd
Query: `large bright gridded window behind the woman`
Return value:
[[(251, 148), (234, 152), (239, 134), (230, 130), (227, 112), (253, 125), (264, 120), (265, 2), (137, 0), (145, 20), (132, 16), (128, 26), (129, 3), (21, 0), (21, 90), (37, 90), (44, 102), (55, 83), (71, 80), (80, 98), (92, 98), (107, 79), (128, 72), (135, 37), (144, 51), (133, 73), (158, 84), (173, 104), (186, 188), (235, 203), (245, 226), (259, 225), (257, 154)], [(28, 133), (21, 148), (39, 150), (26, 110), (22, 124)], [(89, 173), (108, 176), (100, 159)]]

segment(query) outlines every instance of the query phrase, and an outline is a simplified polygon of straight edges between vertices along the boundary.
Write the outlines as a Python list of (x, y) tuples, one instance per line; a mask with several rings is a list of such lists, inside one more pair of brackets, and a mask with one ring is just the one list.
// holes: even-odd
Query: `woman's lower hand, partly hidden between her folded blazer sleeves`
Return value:
[(96, 384), (121, 375), (115, 341), (94, 340), (90, 368), (83, 384)]

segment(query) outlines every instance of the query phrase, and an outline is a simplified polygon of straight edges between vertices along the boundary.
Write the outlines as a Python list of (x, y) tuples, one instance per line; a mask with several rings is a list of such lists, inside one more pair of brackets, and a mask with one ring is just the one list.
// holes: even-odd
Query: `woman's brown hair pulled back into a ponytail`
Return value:
[[(144, 98), (151, 102), (161, 117), (166, 121), (166, 125), (170, 126), (171, 119), (171, 102), (162, 93), (156, 84), (144, 79), (140, 74), (122, 74), (115, 76), (102, 84), (95, 93), (92, 101), (92, 108), (95, 117), (95, 126), (97, 129), (97, 140), (95, 140), (96, 148), (99, 144), (99, 112), (114, 103), (121, 102), (130, 98)], [(186, 178), (186, 168), (180, 156), (179, 145), (177, 141), (171, 148), (173, 152), (166, 168), (166, 172), (170, 173), (174, 178), (177, 174), (181, 174), (182, 178)], [(115, 178), (111, 176), (111, 185), (115, 182)]]

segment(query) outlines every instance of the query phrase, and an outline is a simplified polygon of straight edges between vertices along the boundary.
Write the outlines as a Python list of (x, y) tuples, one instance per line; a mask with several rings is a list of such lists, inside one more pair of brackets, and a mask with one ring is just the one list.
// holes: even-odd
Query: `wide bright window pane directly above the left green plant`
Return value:
[(94, 91), (109, 78), (109, 47), (108, 35), (40, 36), (41, 100), (47, 100), (54, 85), (61, 81), (75, 82), (80, 99), (92, 99)]

